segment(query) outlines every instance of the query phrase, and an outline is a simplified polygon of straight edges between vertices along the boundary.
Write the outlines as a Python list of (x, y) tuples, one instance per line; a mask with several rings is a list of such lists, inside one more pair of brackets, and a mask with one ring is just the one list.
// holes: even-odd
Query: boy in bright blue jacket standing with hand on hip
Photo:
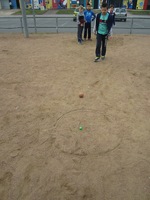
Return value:
[(84, 11), (85, 16), (85, 27), (84, 27), (84, 40), (86, 40), (87, 37), (87, 31), (88, 31), (88, 40), (91, 41), (91, 22), (95, 19), (95, 14), (93, 11), (91, 11), (91, 5), (87, 4), (87, 9)]

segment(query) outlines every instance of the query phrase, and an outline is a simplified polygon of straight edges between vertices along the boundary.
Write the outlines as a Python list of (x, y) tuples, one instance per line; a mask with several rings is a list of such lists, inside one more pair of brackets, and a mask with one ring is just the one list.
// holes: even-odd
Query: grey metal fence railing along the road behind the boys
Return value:
[[(38, 19), (40, 20), (43, 20), (43, 22), (41, 22), (40, 26), (39, 26), (39, 23), (37, 24), (37, 21)], [(41, 26), (45, 20), (47, 19), (53, 19), (53, 23), (49, 23), (49, 25), (44, 25), (44, 26)], [(60, 25), (59, 22), (60, 20), (70, 20), (72, 19), (72, 23), (71, 21), (69, 21), (69, 26), (65, 26), (65, 23), (63, 23), (64, 25)], [(14, 20), (16, 20), (16, 22), (13, 24), (11, 23), (11, 26), (10, 25), (2, 25), (1, 21), (2, 20), (5, 20), (7, 22), (10, 22)], [(19, 23), (18, 23), (18, 20), (19, 20)], [(54, 29), (56, 33), (59, 33), (61, 29), (73, 29), (73, 28), (77, 28), (77, 24), (75, 22), (73, 22), (73, 16), (37, 16), (35, 15), (34, 16), (27, 16), (27, 21), (29, 20), (33, 20), (33, 25), (28, 25), (28, 29), (34, 29), (34, 32), (37, 33), (38, 32), (38, 29), (44, 29), (44, 28), (47, 28), (47, 29)], [(149, 20), (148, 21), (148, 26), (145, 27), (145, 26), (134, 26), (134, 22), (136, 22), (137, 20)], [(127, 22), (129, 22), (128, 25), (126, 25)], [(67, 24), (67, 23), (66, 23)], [(137, 25), (137, 23), (136, 23)], [(93, 27), (93, 23), (92, 23), (92, 27)], [(12, 30), (12, 29), (17, 29), (17, 30), (20, 30), (22, 33), (24, 31), (24, 27), (23, 27), (23, 19), (22, 19), (22, 16), (10, 16), (10, 17), (0, 17), (0, 32), (1, 30)], [(113, 29), (129, 29), (129, 33), (132, 34), (133, 30), (134, 29), (150, 29), (150, 18), (149, 17), (127, 17), (127, 21), (126, 22), (122, 22), (121, 26), (114, 26)], [(44, 32), (44, 31), (43, 31)]]

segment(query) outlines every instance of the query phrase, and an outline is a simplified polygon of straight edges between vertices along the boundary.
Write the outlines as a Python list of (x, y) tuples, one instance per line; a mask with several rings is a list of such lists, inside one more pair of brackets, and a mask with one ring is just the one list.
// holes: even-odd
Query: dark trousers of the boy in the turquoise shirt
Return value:
[(108, 38), (107, 35), (101, 35), (97, 33), (97, 42), (96, 42), (96, 50), (95, 50), (95, 54), (97, 57), (100, 57), (101, 55), (105, 56), (107, 38)]

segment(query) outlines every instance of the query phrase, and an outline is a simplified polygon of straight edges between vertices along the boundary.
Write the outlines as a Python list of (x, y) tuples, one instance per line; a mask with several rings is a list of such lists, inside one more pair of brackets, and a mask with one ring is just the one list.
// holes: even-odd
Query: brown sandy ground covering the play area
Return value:
[(0, 200), (150, 200), (150, 36), (94, 52), (0, 35)]

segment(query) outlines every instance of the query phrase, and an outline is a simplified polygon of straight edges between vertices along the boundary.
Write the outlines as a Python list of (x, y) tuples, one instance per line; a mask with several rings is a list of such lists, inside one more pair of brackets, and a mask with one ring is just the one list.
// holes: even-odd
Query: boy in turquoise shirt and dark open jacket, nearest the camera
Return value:
[(112, 24), (113, 24), (113, 18), (110, 15), (110, 13), (108, 13), (107, 4), (103, 3), (101, 7), (101, 13), (99, 13), (96, 17), (95, 33), (97, 33), (97, 42), (95, 50), (96, 54), (95, 62), (100, 61), (100, 58), (102, 60), (105, 59), (106, 43)]

